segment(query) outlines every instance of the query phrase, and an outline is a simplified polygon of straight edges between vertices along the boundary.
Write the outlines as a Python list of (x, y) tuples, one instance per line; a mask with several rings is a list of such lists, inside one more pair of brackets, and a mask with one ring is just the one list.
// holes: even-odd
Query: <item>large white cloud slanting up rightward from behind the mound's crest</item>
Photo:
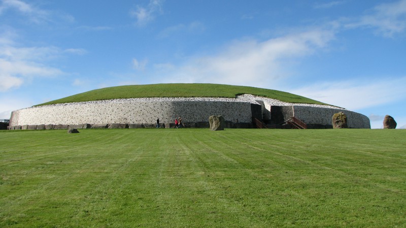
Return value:
[(263, 42), (235, 41), (215, 55), (191, 57), (166, 82), (271, 85), (287, 77), (284, 69), (292, 59), (311, 55), (332, 39), (333, 31), (313, 29)]

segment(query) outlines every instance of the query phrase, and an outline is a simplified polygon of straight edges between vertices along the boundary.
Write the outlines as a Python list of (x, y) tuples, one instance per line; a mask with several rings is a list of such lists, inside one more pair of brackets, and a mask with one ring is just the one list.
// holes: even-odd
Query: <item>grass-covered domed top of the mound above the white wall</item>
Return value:
[(325, 105), (324, 103), (309, 99), (307, 97), (278, 90), (249, 86), (200, 83), (115, 86), (95, 89), (88, 92), (67, 96), (62, 99), (54, 100), (40, 105), (138, 97), (235, 97), (236, 95), (240, 94), (265, 96), (282, 102)]

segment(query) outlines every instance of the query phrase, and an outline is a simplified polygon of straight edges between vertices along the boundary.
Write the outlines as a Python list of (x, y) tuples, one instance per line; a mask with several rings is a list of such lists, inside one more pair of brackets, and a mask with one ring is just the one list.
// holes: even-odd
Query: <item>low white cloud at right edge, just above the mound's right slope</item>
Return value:
[(336, 81), (317, 83), (289, 92), (349, 110), (376, 107), (406, 99), (406, 77), (383, 81)]

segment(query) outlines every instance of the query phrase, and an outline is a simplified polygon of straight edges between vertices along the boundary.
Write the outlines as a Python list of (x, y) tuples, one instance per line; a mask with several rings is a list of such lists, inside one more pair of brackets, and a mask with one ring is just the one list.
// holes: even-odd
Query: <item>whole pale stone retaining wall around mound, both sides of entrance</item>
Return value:
[[(332, 115), (342, 111), (348, 117), (349, 127), (370, 128), (368, 117), (356, 112), (332, 106), (285, 104), (252, 95), (242, 95), (237, 99), (213, 97), (118, 99), (31, 107), (13, 111), (9, 128), (59, 129), (69, 126), (89, 128), (98, 125), (118, 127), (119, 125), (114, 124), (120, 123), (127, 124), (126, 127), (130, 128), (154, 127), (157, 118), (161, 125), (166, 127), (178, 117), (182, 117), (187, 126), (199, 127), (205, 126), (211, 115), (222, 115), (228, 126), (250, 127), (251, 104), (261, 105), (264, 120), (272, 120), (270, 115), (272, 107), (280, 107), (284, 120), (294, 116), (307, 124), (331, 125)], [(80, 127), (81, 124), (86, 126)]]

